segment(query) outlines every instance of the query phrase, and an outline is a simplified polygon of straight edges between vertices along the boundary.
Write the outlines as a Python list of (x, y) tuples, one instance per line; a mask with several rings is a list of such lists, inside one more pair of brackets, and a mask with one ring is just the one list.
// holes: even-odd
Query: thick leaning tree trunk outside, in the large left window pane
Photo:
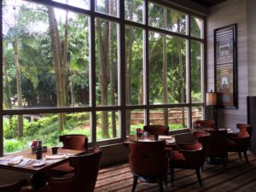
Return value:
[[(53, 57), (55, 62), (55, 84), (56, 84), (56, 95), (57, 95), (57, 106), (63, 107), (63, 90), (61, 86), (61, 46), (57, 28), (57, 21), (55, 20), (54, 9), (48, 7), (49, 16), (49, 30), (51, 38), (51, 46), (53, 51)], [(64, 113), (59, 113), (59, 130), (64, 130)]]

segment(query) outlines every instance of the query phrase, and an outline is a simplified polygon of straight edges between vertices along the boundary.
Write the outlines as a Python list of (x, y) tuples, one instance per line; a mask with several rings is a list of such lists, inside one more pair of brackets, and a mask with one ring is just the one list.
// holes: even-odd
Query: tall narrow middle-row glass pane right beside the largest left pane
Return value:
[(96, 19), (96, 104), (118, 104), (118, 24)]

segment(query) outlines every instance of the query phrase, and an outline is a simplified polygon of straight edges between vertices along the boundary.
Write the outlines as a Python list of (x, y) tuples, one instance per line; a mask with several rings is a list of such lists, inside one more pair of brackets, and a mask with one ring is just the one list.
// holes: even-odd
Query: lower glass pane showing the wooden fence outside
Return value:
[(188, 108), (157, 108), (149, 110), (150, 125), (169, 125), (170, 130), (188, 127)]

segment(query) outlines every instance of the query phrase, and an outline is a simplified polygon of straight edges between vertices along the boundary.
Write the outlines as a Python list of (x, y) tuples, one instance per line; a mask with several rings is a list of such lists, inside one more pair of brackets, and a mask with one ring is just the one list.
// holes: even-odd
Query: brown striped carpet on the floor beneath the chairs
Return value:
[[(197, 182), (194, 170), (176, 169), (174, 188), (168, 175), (168, 186), (163, 183), (165, 192), (255, 192), (256, 191), (256, 157), (247, 152), (250, 164), (239, 159), (238, 154), (229, 154), (228, 172), (223, 166), (205, 165), (201, 172), (203, 187)], [(132, 175), (129, 164), (111, 166), (99, 172), (95, 192), (130, 192)], [(137, 192), (157, 192), (154, 183), (137, 183)]]

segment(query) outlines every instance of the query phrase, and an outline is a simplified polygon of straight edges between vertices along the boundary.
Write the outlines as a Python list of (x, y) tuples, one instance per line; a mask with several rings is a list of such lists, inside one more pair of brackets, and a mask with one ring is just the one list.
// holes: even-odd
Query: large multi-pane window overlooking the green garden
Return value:
[(120, 143), (145, 124), (202, 118), (200, 15), (148, 0), (6, 0), (2, 10), (4, 153), (67, 133)]

